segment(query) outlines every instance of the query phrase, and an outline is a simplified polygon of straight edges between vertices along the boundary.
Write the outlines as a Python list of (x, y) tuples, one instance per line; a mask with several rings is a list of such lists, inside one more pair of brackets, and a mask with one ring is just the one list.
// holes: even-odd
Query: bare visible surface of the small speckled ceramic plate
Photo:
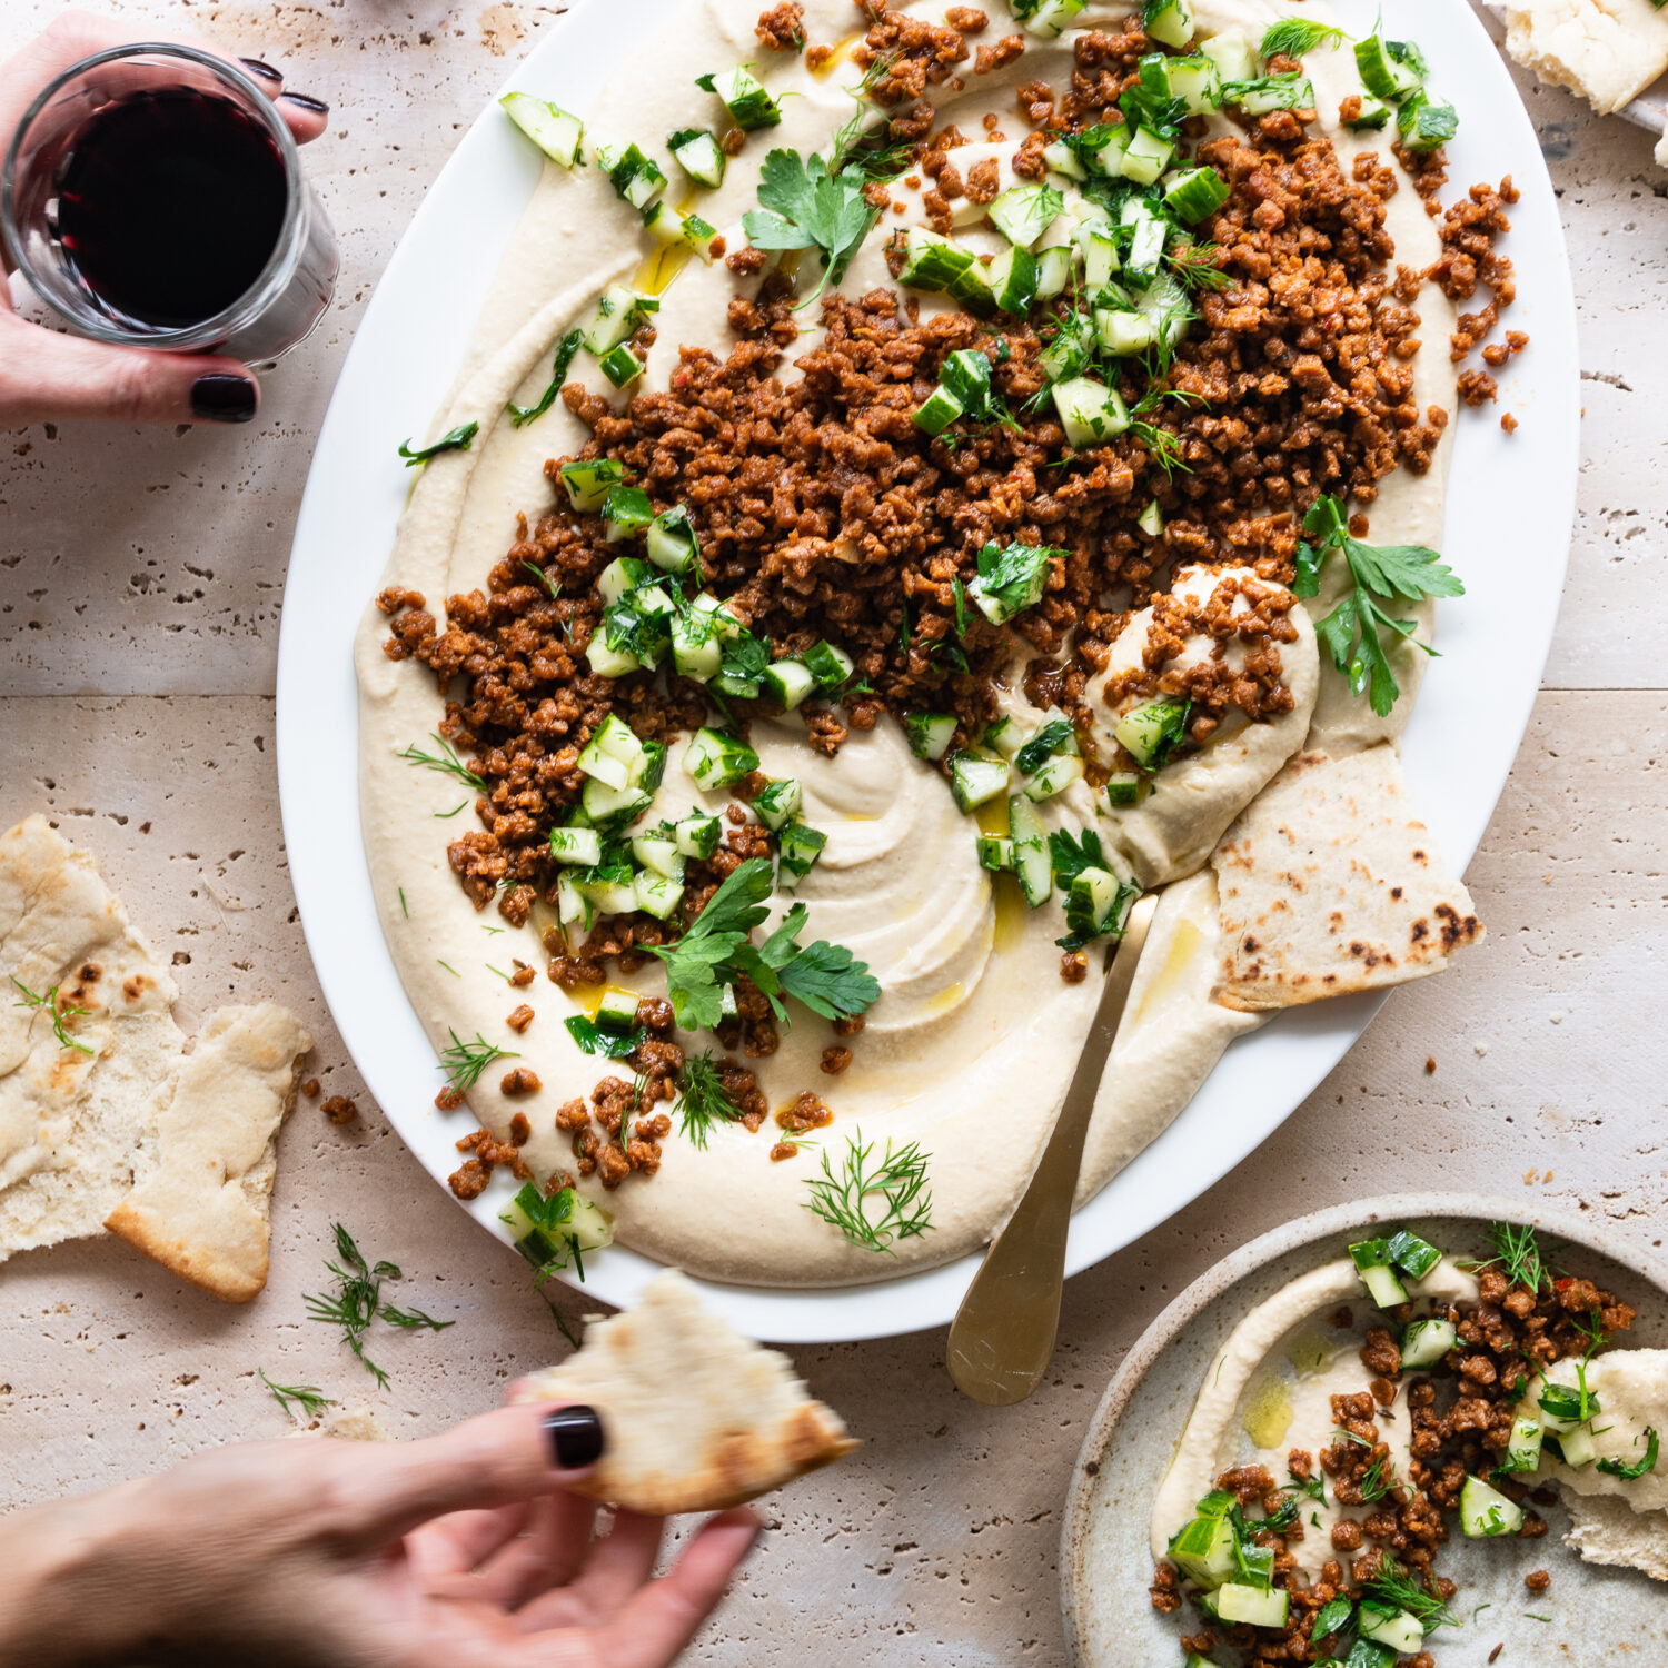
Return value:
[[(1486, 1256), (1483, 1236), (1491, 1221), (1535, 1226), (1543, 1248), (1578, 1248), (1570, 1266), (1638, 1309), (1628, 1343), (1668, 1344), (1668, 1268), (1581, 1216), (1475, 1194), (1403, 1194), (1339, 1204), (1253, 1239), (1201, 1274), (1143, 1333), (1089, 1423), (1066, 1501), (1059, 1561), (1076, 1668), (1181, 1661), (1183, 1618), (1161, 1616), (1148, 1601), (1148, 1526), (1193, 1399), (1234, 1326), (1288, 1281), (1343, 1256), (1373, 1224), (1408, 1224), (1444, 1251)], [(1546, 1518), (1551, 1533), (1533, 1550), (1465, 1540), (1444, 1548), (1441, 1570), (1460, 1583), (1453, 1608), (1463, 1626), (1433, 1636), (1438, 1668), (1485, 1668), (1496, 1645), (1503, 1645), (1498, 1668), (1656, 1668), (1668, 1661), (1663, 1588), (1630, 1570), (1583, 1563), (1561, 1545), (1563, 1506), (1548, 1508)], [(1531, 1598), (1523, 1576), (1538, 1566), (1551, 1571), (1553, 1585)]]

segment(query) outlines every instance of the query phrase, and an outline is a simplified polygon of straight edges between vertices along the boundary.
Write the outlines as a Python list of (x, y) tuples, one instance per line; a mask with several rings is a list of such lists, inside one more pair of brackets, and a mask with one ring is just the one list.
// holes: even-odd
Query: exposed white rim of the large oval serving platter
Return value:
[[(679, 27), (691, 0), (636, 0), (634, 27)], [(759, 0), (722, 0), (751, 7)], [(1338, 0), (1354, 32), (1378, 0)], [(1438, 87), (1461, 103), (1454, 180), (1511, 173), (1523, 193), (1506, 252), (1518, 267), (1516, 329), (1531, 349), (1505, 375), (1501, 409), (1461, 415), (1443, 550), (1466, 597), (1438, 624), (1443, 659), (1403, 739), (1414, 802), (1463, 871), (1493, 816), (1540, 687), (1570, 554), (1580, 457), (1580, 359), (1563, 229), (1535, 130), (1481, 23), (1454, 0), (1384, 0), (1398, 33), (1424, 43)], [(619, 50), (619, 15), (575, 5), (540, 37), (509, 87), (584, 112), (595, 65)], [(352, 644), (409, 487), (395, 447), (445, 399), (487, 285), (539, 173), (530, 145), (489, 105), (435, 180), (365, 310), (319, 435), (284, 592), (279, 789), (307, 944), (330, 1012), (370, 1093), (435, 1178), (435, 1209), (469, 1209), (499, 1238), (502, 1194), (457, 1206), (455, 1119), (434, 1111), (435, 1059), (382, 942), (359, 841), (359, 707)], [(1441, 352), (1441, 344), (1429, 344)], [(1449, 977), (1463, 977), (1463, 971)], [(1066, 1271), (1089, 1268), (1196, 1199), (1279, 1128), (1366, 1029), (1383, 997), (1293, 1009), (1234, 1042), (1193, 1104), (1071, 1224)], [(444, 1201), (444, 1203), (442, 1203)], [(976, 1256), (834, 1291), (702, 1283), (756, 1338), (811, 1343), (939, 1326)], [(656, 1273), (626, 1248), (587, 1259), (587, 1291), (629, 1304)]]

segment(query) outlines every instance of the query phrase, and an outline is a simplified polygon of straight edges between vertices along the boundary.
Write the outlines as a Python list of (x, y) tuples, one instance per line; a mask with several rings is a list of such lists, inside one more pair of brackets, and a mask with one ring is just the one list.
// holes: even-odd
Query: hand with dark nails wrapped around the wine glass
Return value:
[[(72, 63), (107, 47), (155, 40), (157, 32), (92, 12), (62, 12), (0, 65), (0, 155), (35, 95)], [(284, 92), (284, 77), (255, 58), (234, 58), (207, 40), (187, 40), (237, 63), (279, 108), (295, 142), (325, 128), (329, 107)], [(162, 354), (107, 347), (20, 319), (0, 282), (0, 429), (62, 417), (120, 422), (249, 422), (260, 385), (249, 365), (220, 354)]]

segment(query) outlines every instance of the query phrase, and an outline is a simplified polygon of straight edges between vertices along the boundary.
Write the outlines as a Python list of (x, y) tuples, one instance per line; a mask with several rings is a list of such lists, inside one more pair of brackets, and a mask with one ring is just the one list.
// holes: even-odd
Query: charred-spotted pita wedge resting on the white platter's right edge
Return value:
[(1389, 746), (1298, 754), (1211, 866), (1223, 916), (1216, 1001), (1241, 1012), (1423, 979), (1483, 937)]

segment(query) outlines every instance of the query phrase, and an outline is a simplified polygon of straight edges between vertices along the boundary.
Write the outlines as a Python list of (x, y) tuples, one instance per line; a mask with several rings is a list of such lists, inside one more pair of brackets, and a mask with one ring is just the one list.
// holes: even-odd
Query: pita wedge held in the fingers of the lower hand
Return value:
[(654, 1516), (739, 1506), (857, 1446), (786, 1356), (732, 1331), (674, 1271), (636, 1309), (594, 1321), (519, 1399), (595, 1408), (607, 1449), (575, 1488)]

